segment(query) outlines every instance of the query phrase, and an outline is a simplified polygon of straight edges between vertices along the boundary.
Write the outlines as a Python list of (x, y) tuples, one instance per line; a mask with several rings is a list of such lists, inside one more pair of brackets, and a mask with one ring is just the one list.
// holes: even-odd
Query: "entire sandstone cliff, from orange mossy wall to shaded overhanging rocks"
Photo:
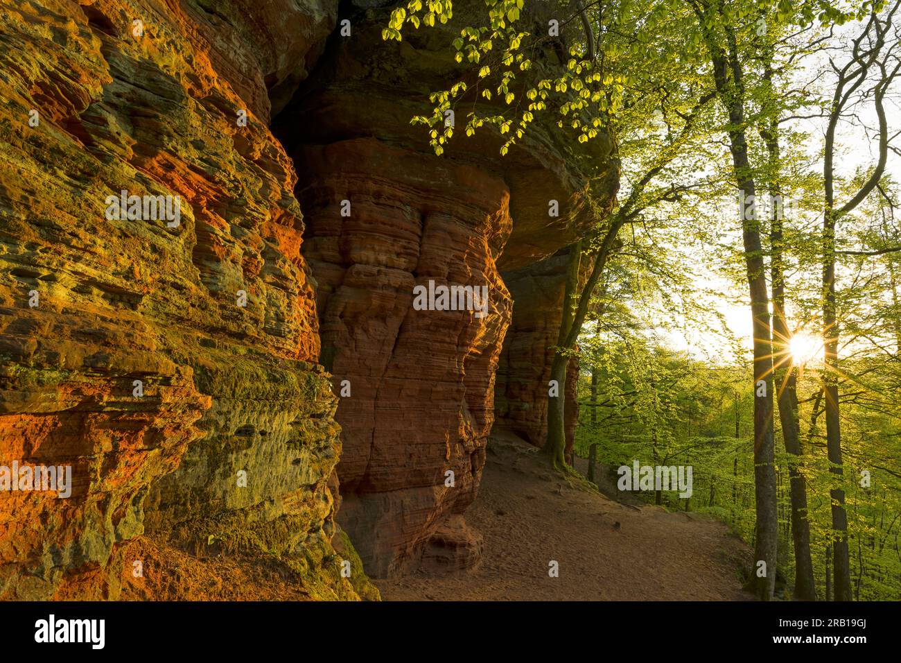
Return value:
[[(375, 598), (363, 566), (478, 559), (496, 407), (543, 425), (562, 281), (530, 265), (612, 147), (600, 182), (541, 125), (435, 157), (409, 119), (459, 26), (385, 43), (367, 5), (0, 5), (0, 465), (73, 474), (0, 493), (0, 597)], [(180, 218), (110, 218), (123, 190)], [(486, 314), (415, 310), (429, 281)]]

